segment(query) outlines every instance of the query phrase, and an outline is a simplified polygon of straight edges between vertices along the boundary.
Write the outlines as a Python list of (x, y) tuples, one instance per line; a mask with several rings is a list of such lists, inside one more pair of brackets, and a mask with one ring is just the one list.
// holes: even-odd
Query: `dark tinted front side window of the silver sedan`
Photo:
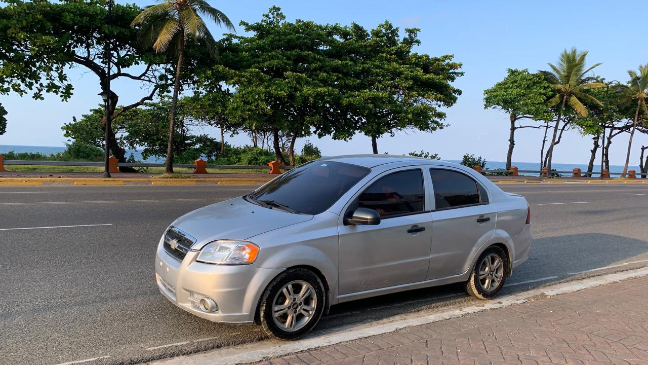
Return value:
[(421, 170), (400, 171), (382, 177), (358, 197), (358, 207), (374, 209), (382, 218), (422, 212), (424, 202)]

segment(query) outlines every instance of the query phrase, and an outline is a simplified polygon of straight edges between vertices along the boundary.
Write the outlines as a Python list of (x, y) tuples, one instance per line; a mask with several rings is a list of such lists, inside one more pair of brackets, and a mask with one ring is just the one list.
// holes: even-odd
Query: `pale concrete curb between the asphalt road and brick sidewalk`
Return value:
[[(568, 294), (580, 290), (595, 288), (597, 286), (618, 283), (629, 279), (648, 276), (648, 267), (636, 270), (621, 271), (607, 275), (599, 275), (588, 279), (570, 281), (567, 283), (553, 284), (544, 288), (537, 288), (502, 297), (498, 301), (488, 301), (483, 305), (472, 305), (469, 307), (446, 310), (444, 312), (435, 312), (433, 314), (422, 315), (421, 312), (400, 315), (399, 320), (386, 318), (376, 321), (375, 323), (359, 323), (349, 325), (345, 328), (332, 331), (331, 333), (319, 333), (307, 336), (303, 340), (295, 342), (281, 342), (278, 340), (268, 340), (245, 344), (230, 348), (216, 349), (207, 353), (198, 353), (194, 355), (185, 355), (173, 359), (158, 360), (151, 362), (155, 365), (225, 365), (225, 364), (249, 364), (262, 360), (282, 357), (292, 353), (300, 353), (319, 347), (340, 344), (341, 342), (358, 340), (378, 334), (399, 331), (408, 327), (416, 327), (428, 323), (434, 323), (443, 320), (450, 320), (467, 316), (469, 314), (492, 310), (496, 308), (509, 307), (521, 303), (527, 303), (538, 299), (538, 297), (551, 297), (559, 294)], [(402, 318), (402, 319), (400, 319)]]

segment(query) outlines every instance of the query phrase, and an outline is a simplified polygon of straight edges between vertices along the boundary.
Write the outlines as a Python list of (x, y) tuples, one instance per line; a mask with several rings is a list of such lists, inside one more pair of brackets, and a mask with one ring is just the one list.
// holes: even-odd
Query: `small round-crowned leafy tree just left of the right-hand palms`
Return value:
[[(507, 69), (507, 76), (492, 88), (484, 90), (484, 108), (496, 108), (509, 114), (511, 129), (506, 170), (511, 168), (515, 131), (521, 128), (540, 128), (539, 125), (522, 125), (522, 120), (551, 120), (553, 113), (546, 101), (551, 97), (551, 85), (538, 73), (527, 69)], [(516, 124), (520, 123), (520, 124)]]

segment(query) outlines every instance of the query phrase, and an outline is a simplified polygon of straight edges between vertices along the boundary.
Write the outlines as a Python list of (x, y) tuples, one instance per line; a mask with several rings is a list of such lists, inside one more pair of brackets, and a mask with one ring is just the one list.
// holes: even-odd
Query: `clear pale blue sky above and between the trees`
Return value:
[[(366, 1), (366, 0), (273, 0), (273, 1), (213, 1), (237, 25), (255, 22), (272, 5), (280, 6), (289, 21), (312, 20), (318, 23), (359, 23), (373, 28), (389, 20), (401, 29), (421, 29), (421, 45), (415, 51), (431, 56), (451, 54), (463, 64), (465, 75), (455, 85), (462, 95), (446, 110), (443, 130), (429, 132), (400, 132), (395, 137), (378, 139), (380, 153), (407, 154), (411, 151), (437, 153), (441, 158), (461, 159), (465, 153), (480, 155), (489, 161), (506, 158), (509, 121), (499, 110), (483, 108), (483, 90), (501, 81), (507, 68), (547, 69), (547, 62), (556, 62), (563, 49), (577, 47), (588, 50), (588, 64), (603, 62), (596, 73), (607, 80), (625, 82), (627, 70), (648, 63), (648, 47), (637, 42), (636, 34), (642, 23), (632, 25), (632, 9), (642, 10), (630, 1)], [(117, 0), (117, 3), (126, 1)], [(145, 6), (153, 0), (135, 1)], [(632, 31), (635, 29), (636, 31)], [(216, 36), (225, 32), (215, 25)], [(220, 38), (220, 37), (217, 37)], [(75, 95), (62, 102), (56, 95), (46, 95), (45, 101), (35, 101), (25, 95), (0, 96), (8, 111), (8, 127), (0, 136), (0, 144), (48, 145), (65, 144), (60, 127), (97, 107), (97, 79), (84, 69), (69, 72)], [(113, 82), (113, 90), (121, 103), (139, 100), (146, 90), (136, 82)], [(218, 138), (215, 129), (204, 130)], [(362, 134), (349, 142), (330, 138), (309, 138), (323, 155), (371, 153), (371, 140)], [(250, 144), (247, 136), (229, 138), (234, 145)], [(542, 131), (520, 129), (516, 132), (513, 161), (539, 160)], [(297, 142), (297, 150), (305, 143)], [(634, 138), (631, 164), (637, 164), (640, 146), (648, 144), (648, 136)], [(568, 131), (554, 152), (554, 162), (586, 164), (590, 157), (592, 139), (578, 131)], [(618, 136), (610, 149), (610, 163), (623, 164), (627, 136)], [(297, 151), (299, 152), (299, 151)], [(597, 161), (597, 163), (599, 163)]]

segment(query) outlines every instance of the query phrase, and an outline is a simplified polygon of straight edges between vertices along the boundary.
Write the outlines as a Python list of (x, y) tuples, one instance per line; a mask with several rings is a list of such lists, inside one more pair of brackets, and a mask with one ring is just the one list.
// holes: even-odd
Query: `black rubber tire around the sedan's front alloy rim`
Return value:
[[(314, 289), (314, 296), (309, 296), (303, 301), (299, 301), (299, 299), (297, 299), (295, 302), (290, 302), (288, 307), (290, 307), (291, 309), (288, 310), (288, 312), (292, 312), (292, 306), (295, 305), (295, 312), (293, 314), (290, 314), (290, 316), (294, 315), (297, 320), (293, 322), (295, 324), (295, 329), (289, 331), (286, 329), (288, 327), (288, 324), (285, 324), (289, 321), (287, 319), (288, 312), (286, 312), (286, 314), (283, 314), (281, 318), (277, 318), (277, 321), (285, 326), (284, 328), (282, 328), (277, 324), (277, 321), (275, 321), (273, 307), (275, 307), (275, 305), (285, 305), (285, 303), (288, 303), (289, 299), (283, 292), (284, 287), (286, 287), (288, 284), (292, 284), (295, 290), (301, 291), (301, 288), (303, 288), (303, 286), (300, 286), (302, 285), (301, 283), (309, 284), (310, 288)], [(306, 286), (306, 288), (308, 288), (308, 286)], [(310, 288), (308, 289), (310, 290)], [(263, 327), (264, 331), (266, 331), (266, 333), (268, 333), (270, 336), (274, 336), (281, 340), (297, 340), (297, 338), (308, 334), (313, 329), (313, 327), (318, 324), (319, 318), (321, 318), (324, 307), (326, 306), (325, 300), (326, 293), (324, 285), (322, 284), (321, 280), (319, 280), (318, 275), (310, 270), (303, 268), (288, 269), (283, 273), (277, 275), (277, 277), (275, 277), (275, 279), (273, 279), (273, 281), (268, 284), (268, 288), (266, 288), (266, 290), (263, 292), (263, 295), (261, 296), (261, 305), (259, 308), (259, 320), (261, 326)], [(312, 303), (314, 303), (314, 305), (311, 306)], [(314, 307), (314, 309), (310, 310), (310, 312), (312, 312), (310, 318), (304, 320), (307, 317), (303, 314), (303, 312), (301, 312), (301, 308), (306, 307)], [(299, 310), (299, 312), (297, 312), (297, 310)], [(281, 322), (282, 319), (285, 319), (283, 323)], [(301, 323), (299, 321), (304, 322)], [(297, 328), (299, 323), (301, 323), (301, 326)]]

